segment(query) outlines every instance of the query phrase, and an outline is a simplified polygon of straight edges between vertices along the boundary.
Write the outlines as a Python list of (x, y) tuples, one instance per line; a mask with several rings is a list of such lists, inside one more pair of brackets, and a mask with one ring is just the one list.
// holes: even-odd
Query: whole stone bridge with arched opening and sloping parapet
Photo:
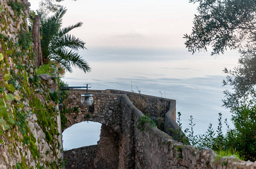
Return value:
[[(250, 168), (248, 162), (234, 158), (214, 161), (211, 149), (197, 150), (173, 139), (177, 130), (176, 100), (117, 90), (89, 91), (93, 105), (82, 106), (80, 100), (86, 90), (70, 90), (66, 108), (72, 108), (67, 127), (83, 121), (99, 122), (100, 140), (97, 145), (68, 150), (66, 168)], [(156, 127), (141, 131), (138, 119), (150, 117)], [(146, 124), (148, 125), (148, 124)]]

